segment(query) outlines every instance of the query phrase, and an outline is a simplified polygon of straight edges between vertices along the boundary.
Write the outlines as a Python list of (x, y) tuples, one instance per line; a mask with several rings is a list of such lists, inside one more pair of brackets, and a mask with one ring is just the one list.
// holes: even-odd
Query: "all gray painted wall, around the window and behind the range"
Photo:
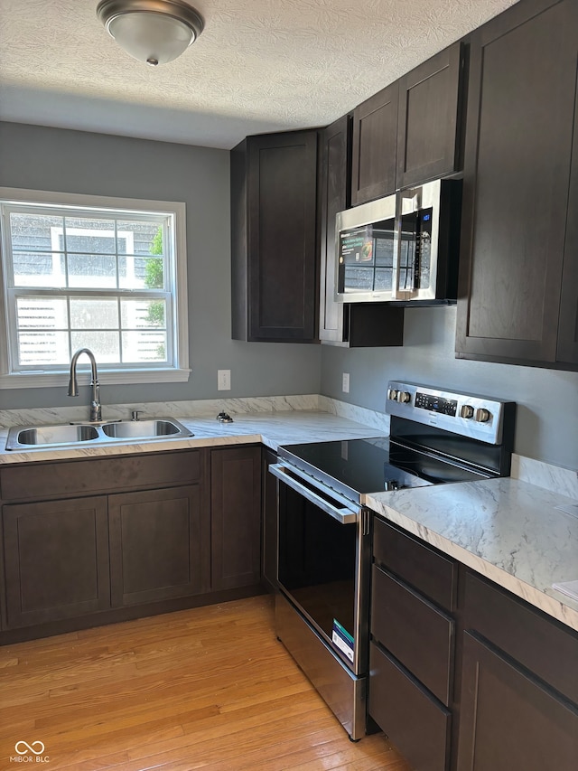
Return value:
[[(455, 359), (455, 308), (406, 310), (403, 348), (232, 341), (228, 184), (225, 150), (0, 123), (0, 185), (187, 204), (191, 379), (106, 386), (104, 404), (321, 392), (383, 411), (387, 381), (406, 378), (516, 400), (517, 452), (578, 468), (578, 373)], [(65, 389), (0, 390), (0, 409), (64, 405)]]

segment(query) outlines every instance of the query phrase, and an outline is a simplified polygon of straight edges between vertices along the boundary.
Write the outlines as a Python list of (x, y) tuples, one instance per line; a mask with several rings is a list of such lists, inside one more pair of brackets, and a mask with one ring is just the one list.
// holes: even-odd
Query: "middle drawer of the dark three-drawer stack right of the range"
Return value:
[(371, 634), (447, 706), (451, 695), (453, 621), (373, 566)]

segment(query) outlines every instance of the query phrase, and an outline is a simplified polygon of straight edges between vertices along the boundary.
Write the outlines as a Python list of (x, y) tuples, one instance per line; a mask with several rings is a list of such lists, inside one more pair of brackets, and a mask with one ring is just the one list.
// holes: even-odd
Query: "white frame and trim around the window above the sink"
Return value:
[[(172, 320), (167, 319), (167, 336), (172, 335), (172, 362), (167, 364), (152, 364), (150, 368), (119, 368), (107, 369), (107, 364), (98, 364), (98, 379), (104, 384), (130, 383), (163, 383), (186, 382), (189, 380), (189, 313), (187, 291), (187, 243), (186, 243), (186, 209), (182, 202), (144, 201), (133, 198), (109, 198), (100, 195), (77, 195), (75, 193), (51, 193), (38, 190), (21, 190), (18, 188), (0, 187), (0, 201), (3, 203), (29, 203), (31, 205), (57, 205), (67, 207), (67, 211), (93, 209), (98, 214), (106, 215), (119, 212), (130, 215), (131, 212), (163, 213), (173, 217), (172, 269), (169, 271), (169, 290), (172, 295), (174, 313)], [(3, 329), (0, 330), (0, 389), (20, 388), (50, 388), (65, 387), (69, 381), (69, 371), (51, 370), (50, 367), (34, 371), (14, 371), (11, 369), (10, 346), (13, 334), (14, 319), (11, 318), (11, 308), (7, 302), (6, 260), (3, 254), (9, 249), (10, 239), (7, 222), (3, 221), (3, 240), (0, 242), (0, 314)]]

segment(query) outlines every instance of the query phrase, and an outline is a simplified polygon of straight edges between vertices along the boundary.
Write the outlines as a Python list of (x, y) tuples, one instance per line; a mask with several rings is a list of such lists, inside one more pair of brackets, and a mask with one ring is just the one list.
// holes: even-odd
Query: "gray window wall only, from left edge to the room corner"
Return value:
[[(226, 150), (0, 123), (1, 186), (186, 203), (191, 378), (103, 386), (103, 404), (319, 392), (320, 346), (231, 340), (228, 174)], [(70, 403), (65, 388), (0, 390), (0, 409)]]

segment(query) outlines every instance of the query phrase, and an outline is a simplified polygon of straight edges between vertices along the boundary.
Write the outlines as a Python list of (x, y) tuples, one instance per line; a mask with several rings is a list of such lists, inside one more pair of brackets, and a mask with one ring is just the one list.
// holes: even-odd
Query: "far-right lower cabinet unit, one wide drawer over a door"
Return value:
[(578, 635), (468, 575), (458, 771), (573, 771)]

